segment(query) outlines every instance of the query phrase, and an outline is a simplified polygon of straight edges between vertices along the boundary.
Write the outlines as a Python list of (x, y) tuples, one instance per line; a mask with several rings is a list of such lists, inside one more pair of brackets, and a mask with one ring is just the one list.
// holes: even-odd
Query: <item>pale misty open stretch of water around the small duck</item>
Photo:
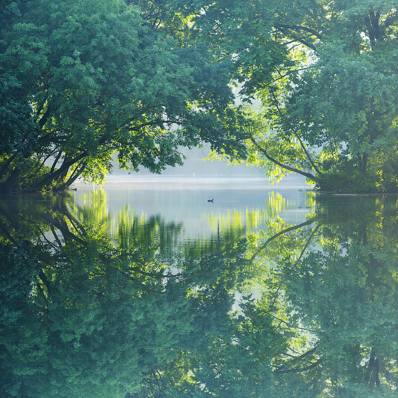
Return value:
[[(89, 200), (100, 188), (95, 185), (75, 186), (78, 188), (76, 203)], [(190, 240), (212, 233), (222, 234), (231, 228), (232, 223), (235, 227), (239, 225), (242, 233), (261, 229), (269, 216), (276, 214), (289, 223), (300, 223), (312, 208), (305, 197), (305, 190), (310, 188), (296, 176), (279, 185), (271, 185), (268, 179), (253, 176), (137, 175), (110, 176), (102, 187), (105, 206), (113, 217), (126, 208), (131, 216), (141, 218), (161, 214), (165, 221), (181, 223), (181, 239)], [(270, 203), (275, 207), (270, 208)]]

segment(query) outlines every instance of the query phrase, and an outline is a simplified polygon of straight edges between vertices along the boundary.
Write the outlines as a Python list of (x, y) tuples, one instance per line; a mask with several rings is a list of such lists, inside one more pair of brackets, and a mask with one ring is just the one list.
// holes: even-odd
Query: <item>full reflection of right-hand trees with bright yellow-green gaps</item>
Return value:
[(244, 297), (231, 336), (198, 359), (201, 396), (394, 396), (396, 219), (396, 198), (337, 197), (302, 224), (249, 234), (260, 297)]

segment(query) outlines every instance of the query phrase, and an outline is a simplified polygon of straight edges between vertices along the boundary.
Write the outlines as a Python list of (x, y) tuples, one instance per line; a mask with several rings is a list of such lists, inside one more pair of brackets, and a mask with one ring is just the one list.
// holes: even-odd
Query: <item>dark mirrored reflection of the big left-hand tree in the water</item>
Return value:
[(228, 329), (229, 275), (244, 247), (181, 259), (115, 247), (62, 200), (5, 204), (1, 397), (161, 397), (189, 384), (187, 353)]

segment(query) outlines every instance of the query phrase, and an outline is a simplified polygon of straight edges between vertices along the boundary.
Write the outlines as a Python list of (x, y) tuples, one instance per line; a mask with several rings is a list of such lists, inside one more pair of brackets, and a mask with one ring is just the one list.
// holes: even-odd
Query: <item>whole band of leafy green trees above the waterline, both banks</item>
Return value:
[(398, 192), (394, 1), (7, 0), (0, 19), (2, 192), (100, 182), (114, 152), (159, 173), (202, 143), (274, 181)]

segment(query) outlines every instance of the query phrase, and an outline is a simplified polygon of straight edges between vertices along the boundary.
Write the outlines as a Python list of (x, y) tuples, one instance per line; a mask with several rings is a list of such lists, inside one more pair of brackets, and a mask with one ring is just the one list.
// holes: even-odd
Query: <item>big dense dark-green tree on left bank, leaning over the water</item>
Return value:
[(181, 164), (181, 146), (242, 152), (228, 68), (181, 31), (181, 12), (162, 3), (152, 21), (149, 4), (6, 1), (1, 191), (102, 181), (115, 151), (154, 173)]

